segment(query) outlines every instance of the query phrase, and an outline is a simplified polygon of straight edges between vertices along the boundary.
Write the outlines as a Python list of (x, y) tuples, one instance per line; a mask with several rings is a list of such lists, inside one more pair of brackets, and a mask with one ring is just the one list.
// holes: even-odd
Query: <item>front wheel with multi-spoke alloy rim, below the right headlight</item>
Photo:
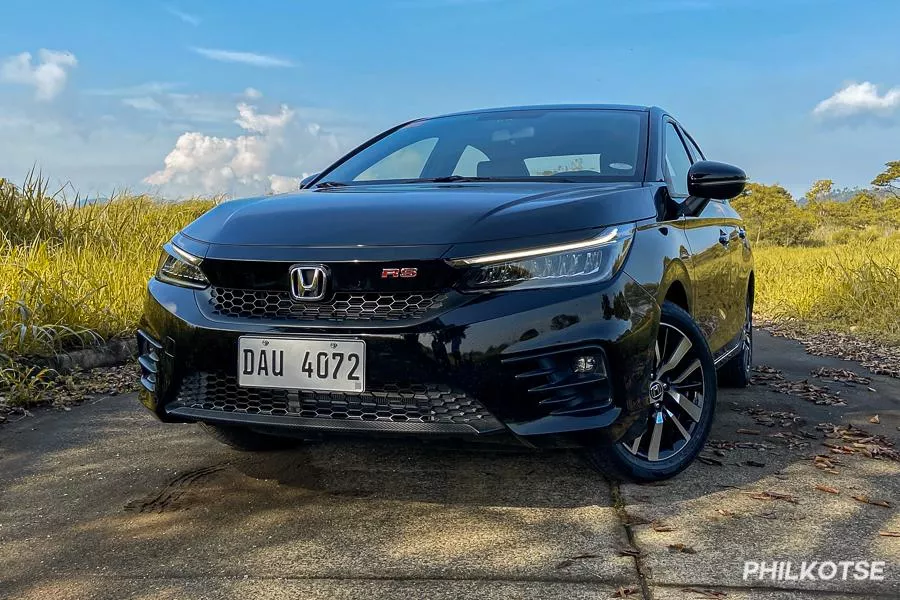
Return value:
[[(647, 395), (647, 427), (629, 440), (587, 450), (591, 465), (613, 479), (673, 477), (703, 450), (716, 409), (716, 368), (706, 338), (681, 307), (665, 302)], [(655, 402), (654, 402), (655, 400)]]

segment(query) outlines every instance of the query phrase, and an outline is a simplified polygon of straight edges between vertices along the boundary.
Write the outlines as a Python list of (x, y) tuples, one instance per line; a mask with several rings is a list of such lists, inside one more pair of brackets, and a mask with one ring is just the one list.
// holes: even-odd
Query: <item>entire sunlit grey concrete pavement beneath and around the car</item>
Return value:
[[(757, 359), (819, 385), (820, 366), (868, 376), (762, 333)], [(707, 462), (655, 486), (611, 486), (568, 452), (241, 454), (132, 396), (39, 411), (0, 428), (0, 598), (895, 598), (900, 538), (879, 533), (900, 531), (900, 463), (813, 462), (830, 453), (819, 423), (897, 441), (900, 381), (871, 378), (827, 383), (846, 406), (722, 390)], [(883, 581), (745, 581), (748, 560), (887, 565)]]

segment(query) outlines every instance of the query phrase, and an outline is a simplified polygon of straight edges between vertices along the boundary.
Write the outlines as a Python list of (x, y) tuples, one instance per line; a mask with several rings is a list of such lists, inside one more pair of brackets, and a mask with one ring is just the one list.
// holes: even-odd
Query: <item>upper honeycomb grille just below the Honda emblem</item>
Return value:
[(288, 292), (214, 287), (209, 303), (226, 317), (301, 321), (398, 321), (440, 309), (447, 295), (435, 292), (338, 292), (326, 302), (296, 302)]

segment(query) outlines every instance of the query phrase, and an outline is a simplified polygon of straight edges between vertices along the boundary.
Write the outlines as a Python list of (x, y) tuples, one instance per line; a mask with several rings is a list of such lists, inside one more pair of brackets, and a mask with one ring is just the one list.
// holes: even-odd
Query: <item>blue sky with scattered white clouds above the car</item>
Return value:
[[(897, 0), (3, 0), (0, 177), (286, 191), (397, 123), (662, 106), (795, 195), (900, 160)], [(893, 25), (890, 25), (893, 24)]]

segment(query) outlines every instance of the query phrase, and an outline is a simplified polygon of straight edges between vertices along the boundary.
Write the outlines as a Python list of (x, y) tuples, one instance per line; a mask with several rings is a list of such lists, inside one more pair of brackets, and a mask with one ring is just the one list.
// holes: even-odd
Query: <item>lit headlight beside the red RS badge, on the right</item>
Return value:
[(449, 262), (466, 269), (462, 287), (473, 291), (598, 283), (622, 266), (632, 237), (634, 225), (618, 225), (580, 242)]

